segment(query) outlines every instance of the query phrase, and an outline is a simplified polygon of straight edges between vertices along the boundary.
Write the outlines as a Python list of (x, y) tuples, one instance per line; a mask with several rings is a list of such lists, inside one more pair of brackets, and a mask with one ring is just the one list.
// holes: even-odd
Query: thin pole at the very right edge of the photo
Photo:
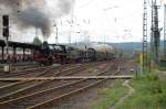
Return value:
[(164, 58), (166, 59), (166, 4), (164, 4)]

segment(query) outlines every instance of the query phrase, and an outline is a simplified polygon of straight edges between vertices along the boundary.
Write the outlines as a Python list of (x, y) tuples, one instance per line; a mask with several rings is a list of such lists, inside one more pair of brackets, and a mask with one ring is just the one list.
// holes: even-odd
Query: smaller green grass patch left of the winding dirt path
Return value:
[(123, 80), (117, 80), (113, 88), (100, 89), (100, 98), (91, 103), (91, 109), (107, 109), (118, 101), (121, 97), (127, 94), (127, 89), (122, 84)]

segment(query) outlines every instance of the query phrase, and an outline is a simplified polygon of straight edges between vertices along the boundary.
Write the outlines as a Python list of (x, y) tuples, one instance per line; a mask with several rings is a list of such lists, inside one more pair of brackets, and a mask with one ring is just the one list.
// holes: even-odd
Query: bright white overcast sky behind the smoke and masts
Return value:
[[(50, 14), (58, 10), (54, 1), (56, 0), (46, 1), (52, 9)], [(149, 6), (148, 2), (148, 8)], [(151, 11), (148, 12), (151, 13)], [(162, 7), (159, 9), (159, 28), (163, 28), (163, 14)], [(143, 37), (142, 20), (143, 0), (75, 0), (72, 11), (56, 19), (55, 22), (60, 43), (69, 43), (70, 37), (71, 42), (141, 42)], [(54, 31), (49, 39), (50, 43), (55, 42), (56, 30), (53, 25)], [(30, 41), (35, 36), (34, 28), (19, 32), (12, 25), (12, 33), (21, 35), (21, 39), (25, 39), (25, 41), (27, 37)], [(38, 34), (41, 35), (40, 32)]]

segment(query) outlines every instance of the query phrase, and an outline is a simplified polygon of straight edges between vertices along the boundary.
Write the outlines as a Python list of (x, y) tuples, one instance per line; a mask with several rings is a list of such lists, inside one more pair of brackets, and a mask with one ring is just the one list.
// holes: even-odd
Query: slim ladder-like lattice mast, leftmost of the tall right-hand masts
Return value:
[(144, 14), (143, 14), (143, 72), (147, 69), (147, 1), (144, 0)]

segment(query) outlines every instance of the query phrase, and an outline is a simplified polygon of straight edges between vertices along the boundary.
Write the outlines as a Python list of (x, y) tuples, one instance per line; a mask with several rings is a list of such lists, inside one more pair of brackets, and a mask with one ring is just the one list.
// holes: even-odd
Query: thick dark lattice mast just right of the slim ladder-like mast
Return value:
[(160, 31), (158, 29), (158, 6), (156, 0), (152, 0), (152, 36), (151, 36), (151, 48), (152, 48), (152, 62), (155, 64), (159, 63), (159, 41)]

